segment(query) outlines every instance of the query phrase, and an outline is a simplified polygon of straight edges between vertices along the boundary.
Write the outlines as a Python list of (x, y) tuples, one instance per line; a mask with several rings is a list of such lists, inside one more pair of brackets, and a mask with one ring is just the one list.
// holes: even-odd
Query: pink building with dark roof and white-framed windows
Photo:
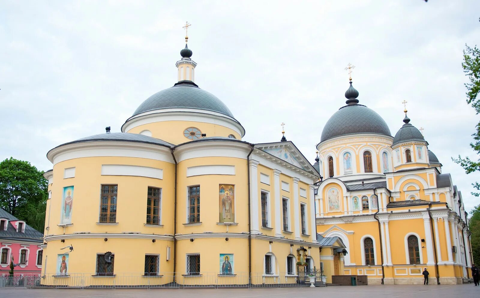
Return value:
[(10, 262), (18, 274), (41, 274), (43, 234), (0, 208), (0, 276), (9, 274)]

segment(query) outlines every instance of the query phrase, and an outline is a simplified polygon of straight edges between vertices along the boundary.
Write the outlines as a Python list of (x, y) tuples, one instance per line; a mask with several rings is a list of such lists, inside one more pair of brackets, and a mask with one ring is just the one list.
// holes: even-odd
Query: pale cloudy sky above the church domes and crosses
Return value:
[[(246, 129), (286, 137), (314, 162), (325, 122), (345, 104), (356, 66), (360, 104), (392, 134), (408, 116), (451, 173), (467, 209), (479, 173), (452, 156), (480, 120), (465, 102), (462, 49), (480, 44), (480, 1), (6, 1), (0, 2), (0, 158), (52, 166), (49, 149), (120, 131), (144, 99), (176, 83), (185, 21), (195, 82)], [(340, 3), (341, 2), (341, 3)], [(360, 3), (361, 2), (361, 3)]]

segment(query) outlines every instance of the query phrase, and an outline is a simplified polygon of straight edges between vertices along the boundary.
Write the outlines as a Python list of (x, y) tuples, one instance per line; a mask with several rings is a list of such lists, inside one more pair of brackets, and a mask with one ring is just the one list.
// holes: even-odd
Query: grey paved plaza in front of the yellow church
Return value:
[[(329, 286), (322, 288), (256, 288), (256, 289), (25, 289), (0, 288), (1, 298), (246, 298), (246, 297), (368, 297), (368, 298), (440, 298), (440, 297), (480, 297), (480, 287), (457, 286)], [(340, 295), (340, 296), (338, 296)]]

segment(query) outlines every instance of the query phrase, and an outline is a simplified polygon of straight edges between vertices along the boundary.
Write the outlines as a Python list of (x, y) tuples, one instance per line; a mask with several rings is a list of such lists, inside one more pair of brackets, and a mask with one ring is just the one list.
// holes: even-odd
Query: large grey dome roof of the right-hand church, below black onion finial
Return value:
[(379, 133), (391, 135), (385, 120), (363, 105), (341, 107), (328, 119), (320, 142), (351, 133)]

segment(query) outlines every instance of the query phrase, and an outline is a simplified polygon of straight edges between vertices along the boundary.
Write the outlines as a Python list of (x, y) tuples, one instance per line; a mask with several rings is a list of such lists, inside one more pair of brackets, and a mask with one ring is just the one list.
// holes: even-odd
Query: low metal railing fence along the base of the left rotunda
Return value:
[(113, 275), (68, 274), (38, 276), (23, 274), (0, 277), (0, 287), (24, 288), (254, 288), (254, 287), (302, 287), (326, 286), (320, 272), (299, 271), (298, 274), (286, 273), (248, 273), (218, 274), (200, 273), (181, 275), (173, 273), (120, 273)]

